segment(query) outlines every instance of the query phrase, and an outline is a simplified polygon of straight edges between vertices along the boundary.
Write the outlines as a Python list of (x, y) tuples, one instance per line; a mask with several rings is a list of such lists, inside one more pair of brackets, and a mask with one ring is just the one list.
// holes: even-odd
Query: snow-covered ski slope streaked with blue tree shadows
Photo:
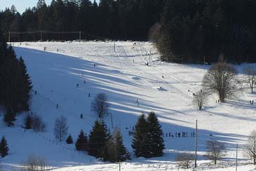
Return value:
[[(107, 126), (112, 130), (113, 121), (113, 126), (121, 129), (124, 144), (132, 153), (132, 160), (121, 164), (122, 170), (175, 170), (177, 153), (194, 151), (191, 133), (195, 131), (196, 120), (199, 167), (212, 164), (203, 157), (209, 139), (227, 145), (227, 159), (222, 165), (234, 164), (236, 143), (240, 146), (239, 163), (248, 161), (243, 157), (242, 148), (247, 136), (256, 129), (256, 104), (249, 104), (250, 100), (256, 101), (256, 95), (250, 93), (247, 85), (227, 103), (216, 104), (217, 96), (211, 96), (207, 107), (198, 111), (191, 103), (192, 93), (201, 89), (203, 74), (209, 66), (161, 62), (156, 48), (148, 42), (117, 41), (115, 45), (112, 41), (14, 44), (15, 53), (27, 64), (34, 86), (31, 110), (42, 116), (46, 132), (36, 134), (20, 128), (25, 114), (18, 116), (14, 128), (7, 128), (1, 119), (0, 135), (6, 136), (10, 147), (9, 156), (0, 159), (4, 170), (12, 170), (32, 153), (46, 157), (55, 170), (118, 170), (117, 164), (100, 163), (75, 151), (74, 144), (58, 142), (53, 135), (55, 118), (60, 115), (67, 117), (68, 132), (74, 141), (81, 129), (88, 135), (97, 119), (90, 111), (90, 103), (97, 93), (106, 93), (109, 97), (112, 105), (111, 114), (105, 117)], [(245, 64), (236, 67), (241, 71)], [(128, 131), (132, 131), (137, 116), (150, 111), (156, 112), (161, 121), (165, 153), (161, 158), (135, 158)], [(173, 137), (169, 137), (169, 132)], [(176, 132), (187, 132), (188, 136), (176, 137)], [(241, 170), (253, 168), (243, 166)]]

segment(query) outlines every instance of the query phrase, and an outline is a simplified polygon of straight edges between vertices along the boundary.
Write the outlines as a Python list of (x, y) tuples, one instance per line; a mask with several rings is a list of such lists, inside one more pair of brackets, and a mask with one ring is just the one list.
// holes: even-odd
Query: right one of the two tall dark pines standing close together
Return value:
[(156, 114), (151, 111), (147, 117), (148, 123), (148, 137), (149, 137), (149, 151), (151, 157), (163, 156), (164, 142), (163, 130), (159, 123)]

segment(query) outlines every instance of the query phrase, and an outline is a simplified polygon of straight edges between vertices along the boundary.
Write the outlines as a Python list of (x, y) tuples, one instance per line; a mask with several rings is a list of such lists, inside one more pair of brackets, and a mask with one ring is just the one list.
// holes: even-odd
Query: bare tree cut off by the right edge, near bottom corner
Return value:
[(245, 156), (252, 159), (253, 164), (256, 164), (256, 130), (250, 132), (248, 142), (245, 147)]

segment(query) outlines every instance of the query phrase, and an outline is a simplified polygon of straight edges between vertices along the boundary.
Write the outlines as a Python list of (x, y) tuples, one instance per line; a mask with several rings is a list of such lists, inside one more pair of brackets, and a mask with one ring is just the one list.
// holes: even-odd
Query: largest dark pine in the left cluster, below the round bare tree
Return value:
[(107, 131), (107, 126), (102, 121), (95, 121), (93, 129), (90, 130), (88, 153), (96, 158), (103, 158), (107, 160), (107, 142), (109, 142), (110, 135)]

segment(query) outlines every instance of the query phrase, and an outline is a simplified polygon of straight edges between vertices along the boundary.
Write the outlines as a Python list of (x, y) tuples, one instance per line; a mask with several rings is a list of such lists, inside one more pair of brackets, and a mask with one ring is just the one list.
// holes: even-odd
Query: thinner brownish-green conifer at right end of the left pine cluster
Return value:
[(118, 162), (126, 160), (126, 147), (123, 146), (123, 137), (119, 128), (113, 132), (111, 139), (107, 144), (108, 160), (111, 162)]

